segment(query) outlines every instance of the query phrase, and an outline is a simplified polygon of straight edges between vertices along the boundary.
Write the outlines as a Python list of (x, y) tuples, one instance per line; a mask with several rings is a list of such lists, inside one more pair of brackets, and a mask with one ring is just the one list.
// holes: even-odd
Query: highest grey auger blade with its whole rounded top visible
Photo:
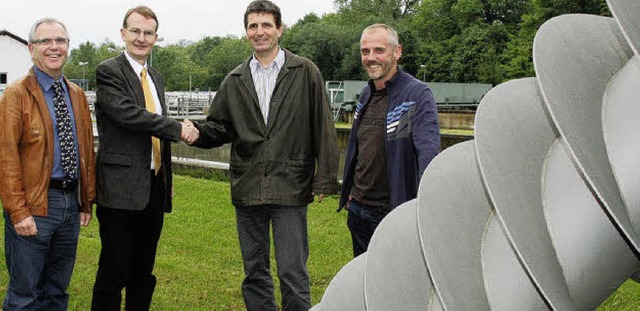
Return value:
[(633, 53), (612, 18), (562, 15), (538, 30), (533, 61), (540, 89), (570, 158), (617, 230), (640, 259), (640, 237), (627, 215), (602, 131), (602, 96)]

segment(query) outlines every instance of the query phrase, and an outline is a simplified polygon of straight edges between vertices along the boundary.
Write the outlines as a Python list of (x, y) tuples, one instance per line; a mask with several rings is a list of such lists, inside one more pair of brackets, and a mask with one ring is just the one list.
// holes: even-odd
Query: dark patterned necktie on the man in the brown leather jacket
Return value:
[(60, 158), (65, 181), (71, 182), (77, 175), (78, 160), (76, 155), (76, 142), (73, 139), (71, 127), (71, 114), (67, 108), (67, 102), (62, 95), (60, 81), (53, 83), (53, 110), (58, 123), (58, 137), (60, 139)]

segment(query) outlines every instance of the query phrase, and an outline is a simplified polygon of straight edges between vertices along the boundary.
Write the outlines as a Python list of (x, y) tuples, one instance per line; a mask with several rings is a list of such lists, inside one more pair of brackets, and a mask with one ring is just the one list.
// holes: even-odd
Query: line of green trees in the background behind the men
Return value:
[[(398, 31), (403, 70), (435, 82), (491, 83), (534, 76), (537, 29), (561, 14), (610, 16), (606, 0), (335, 0), (336, 12), (308, 14), (285, 25), (280, 45), (311, 59), (325, 80), (366, 79), (360, 65), (362, 30), (386, 23)], [(119, 44), (119, 43), (118, 43)], [(114, 42), (85, 42), (70, 52), (64, 73), (89, 80), (95, 67), (121, 53)], [(167, 91), (217, 90), (251, 56), (246, 38), (205, 37), (153, 49), (152, 66)], [(80, 63), (86, 65), (80, 65)]]

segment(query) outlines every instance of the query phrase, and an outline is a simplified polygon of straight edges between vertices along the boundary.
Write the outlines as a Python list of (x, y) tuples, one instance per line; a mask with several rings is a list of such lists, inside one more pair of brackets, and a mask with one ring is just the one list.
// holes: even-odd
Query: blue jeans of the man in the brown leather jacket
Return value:
[(16, 234), (5, 217), (5, 254), (9, 285), (4, 311), (67, 310), (67, 287), (76, 260), (80, 216), (77, 191), (48, 190), (48, 215), (34, 216), (35, 236)]

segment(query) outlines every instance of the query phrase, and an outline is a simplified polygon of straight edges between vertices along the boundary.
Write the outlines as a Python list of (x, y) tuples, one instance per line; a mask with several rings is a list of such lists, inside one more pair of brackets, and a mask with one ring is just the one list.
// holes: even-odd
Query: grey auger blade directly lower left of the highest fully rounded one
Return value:
[(535, 78), (493, 88), (476, 113), (475, 142), (487, 194), (523, 268), (555, 310), (575, 309), (540, 198), (544, 158), (556, 133)]

